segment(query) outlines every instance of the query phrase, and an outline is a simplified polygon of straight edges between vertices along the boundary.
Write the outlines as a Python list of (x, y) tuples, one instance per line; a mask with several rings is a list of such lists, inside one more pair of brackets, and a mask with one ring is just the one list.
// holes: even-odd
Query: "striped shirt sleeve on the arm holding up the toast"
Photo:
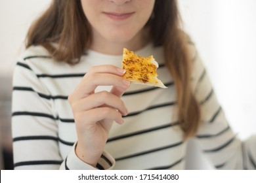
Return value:
[(14, 169), (112, 169), (115, 161), (108, 153), (102, 154), (96, 168), (91, 167), (77, 158), (75, 144), (62, 158), (58, 116), (53, 101), (47, 99), (51, 93), (25, 59), (14, 68), (12, 86)]

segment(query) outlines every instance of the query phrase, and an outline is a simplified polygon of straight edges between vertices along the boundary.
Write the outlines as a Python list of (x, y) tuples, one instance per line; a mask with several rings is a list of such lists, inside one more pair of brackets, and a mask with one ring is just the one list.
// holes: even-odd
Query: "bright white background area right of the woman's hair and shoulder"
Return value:
[(256, 1), (179, 2), (226, 117), (244, 139), (256, 132)]

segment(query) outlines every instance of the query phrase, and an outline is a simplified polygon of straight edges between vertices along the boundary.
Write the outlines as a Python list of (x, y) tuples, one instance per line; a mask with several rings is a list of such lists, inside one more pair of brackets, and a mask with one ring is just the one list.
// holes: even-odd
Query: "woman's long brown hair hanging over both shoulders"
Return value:
[[(184, 139), (195, 135), (200, 125), (200, 106), (191, 88), (192, 59), (188, 54), (186, 35), (179, 28), (176, 0), (156, 0), (148, 21), (154, 46), (163, 46), (165, 65), (175, 82), (179, 123)], [(81, 0), (53, 0), (37, 19), (27, 36), (26, 47), (44, 46), (53, 59), (75, 64), (91, 45), (91, 25)], [(53, 46), (56, 42), (58, 46)]]

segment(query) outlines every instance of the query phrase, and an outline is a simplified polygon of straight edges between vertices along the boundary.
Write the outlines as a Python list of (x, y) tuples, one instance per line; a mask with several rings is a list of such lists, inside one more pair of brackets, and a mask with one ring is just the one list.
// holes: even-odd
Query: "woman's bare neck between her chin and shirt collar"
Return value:
[(133, 39), (127, 42), (111, 42), (107, 41), (104, 38), (100, 38), (98, 36), (93, 37), (93, 44), (91, 45), (91, 49), (96, 52), (100, 52), (102, 54), (109, 55), (121, 55), (123, 54), (123, 48), (127, 48), (129, 50), (139, 50), (140, 48), (146, 46), (148, 44), (148, 31), (146, 29), (142, 29)]

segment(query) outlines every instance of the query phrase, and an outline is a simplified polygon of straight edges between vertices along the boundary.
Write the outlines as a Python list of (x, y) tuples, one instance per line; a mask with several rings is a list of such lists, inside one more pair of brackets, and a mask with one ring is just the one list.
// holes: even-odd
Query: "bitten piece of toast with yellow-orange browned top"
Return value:
[(123, 48), (122, 67), (126, 71), (123, 78), (130, 82), (167, 88), (163, 82), (157, 78), (158, 74), (156, 73), (156, 69), (158, 69), (158, 62), (156, 62), (153, 56), (144, 58)]

